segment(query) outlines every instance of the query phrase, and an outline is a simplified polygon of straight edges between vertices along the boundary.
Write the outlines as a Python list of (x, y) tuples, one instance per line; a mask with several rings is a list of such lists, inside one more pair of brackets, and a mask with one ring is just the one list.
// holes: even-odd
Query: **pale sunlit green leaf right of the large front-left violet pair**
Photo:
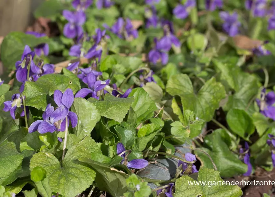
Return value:
[(75, 98), (71, 111), (78, 116), (74, 133), (81, 139), (89, 135), (100, 120), (100, 114), (95, 105), (84, 98)]

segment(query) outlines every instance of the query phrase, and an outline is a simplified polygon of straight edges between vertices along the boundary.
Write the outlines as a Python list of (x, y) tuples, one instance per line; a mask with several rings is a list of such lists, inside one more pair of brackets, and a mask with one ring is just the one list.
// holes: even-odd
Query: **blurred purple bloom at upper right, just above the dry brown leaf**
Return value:
[(220, 12), (220, 18), (224, 21), (222, 25), (224, 31), (228, 33), (229, 36), (234, 37), (238, 34), (239, 26), (241, 26), (241, 22), (238, 21), (237, 12), (233, 12), (229, 14), (228, 12)]

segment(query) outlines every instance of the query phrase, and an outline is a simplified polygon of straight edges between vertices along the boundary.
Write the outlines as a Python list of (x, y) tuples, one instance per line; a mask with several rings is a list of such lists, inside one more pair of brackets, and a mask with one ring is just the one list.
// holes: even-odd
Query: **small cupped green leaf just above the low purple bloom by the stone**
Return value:
[[(125, 124), (124, 124), (125, 125)], [(115, 131), (119, 136), (119, 139), (125, 147), (131, 147), (135, 144), (136, 132), (135, 128), (129, 125), (115, 126)]]

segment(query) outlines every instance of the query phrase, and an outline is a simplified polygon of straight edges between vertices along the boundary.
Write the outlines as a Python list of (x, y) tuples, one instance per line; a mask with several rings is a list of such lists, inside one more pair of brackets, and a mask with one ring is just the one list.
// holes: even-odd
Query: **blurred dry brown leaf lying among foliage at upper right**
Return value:
[(262, 44), (261, 40), (253, 40), (245, 35), (237, 35), (233, 37), (235, 46), (244, 50), (252, 50)]

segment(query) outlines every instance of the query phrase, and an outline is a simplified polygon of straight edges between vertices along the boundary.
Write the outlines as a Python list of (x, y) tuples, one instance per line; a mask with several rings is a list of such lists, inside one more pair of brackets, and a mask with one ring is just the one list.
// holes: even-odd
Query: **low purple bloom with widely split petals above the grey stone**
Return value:
[[(122, 164), (125, 164), (127, 167), (136, 168), (136, 169), (142, 169), (146, 166), (148, 166), (148, 161), (145, 159), (132, 159), (131, 161), (128, 161), (127, 158), (125, 158), (126, 154), (123, 153), (125, 151), (125, 147), (122, 143), (118, 143), (116, 145), (116, 152), (119, 156), (123, 158), (121, 161)], [(120, 155), (123, 153), (122, 155)]]

